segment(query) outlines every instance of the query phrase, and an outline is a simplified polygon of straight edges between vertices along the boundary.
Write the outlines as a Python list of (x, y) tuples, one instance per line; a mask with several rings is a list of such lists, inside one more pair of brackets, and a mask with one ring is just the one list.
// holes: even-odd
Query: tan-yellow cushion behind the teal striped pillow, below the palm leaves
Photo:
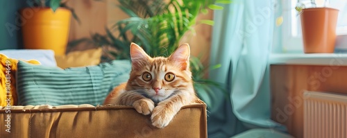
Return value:
[(89, 49), (85, 51), (73, 51), (67, 55), (55, 55), (57, 66), (66, 69), (68, 67), (93, 66), (100, 63), (102, 49)]

